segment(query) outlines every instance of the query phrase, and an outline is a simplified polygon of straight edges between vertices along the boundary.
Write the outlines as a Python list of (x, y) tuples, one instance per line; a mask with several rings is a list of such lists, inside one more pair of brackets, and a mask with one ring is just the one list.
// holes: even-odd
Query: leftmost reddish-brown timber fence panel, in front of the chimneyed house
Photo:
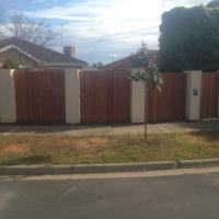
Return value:
[(19, 70), (14, 77), (18, 123), (66, 122), (62, 70)]

